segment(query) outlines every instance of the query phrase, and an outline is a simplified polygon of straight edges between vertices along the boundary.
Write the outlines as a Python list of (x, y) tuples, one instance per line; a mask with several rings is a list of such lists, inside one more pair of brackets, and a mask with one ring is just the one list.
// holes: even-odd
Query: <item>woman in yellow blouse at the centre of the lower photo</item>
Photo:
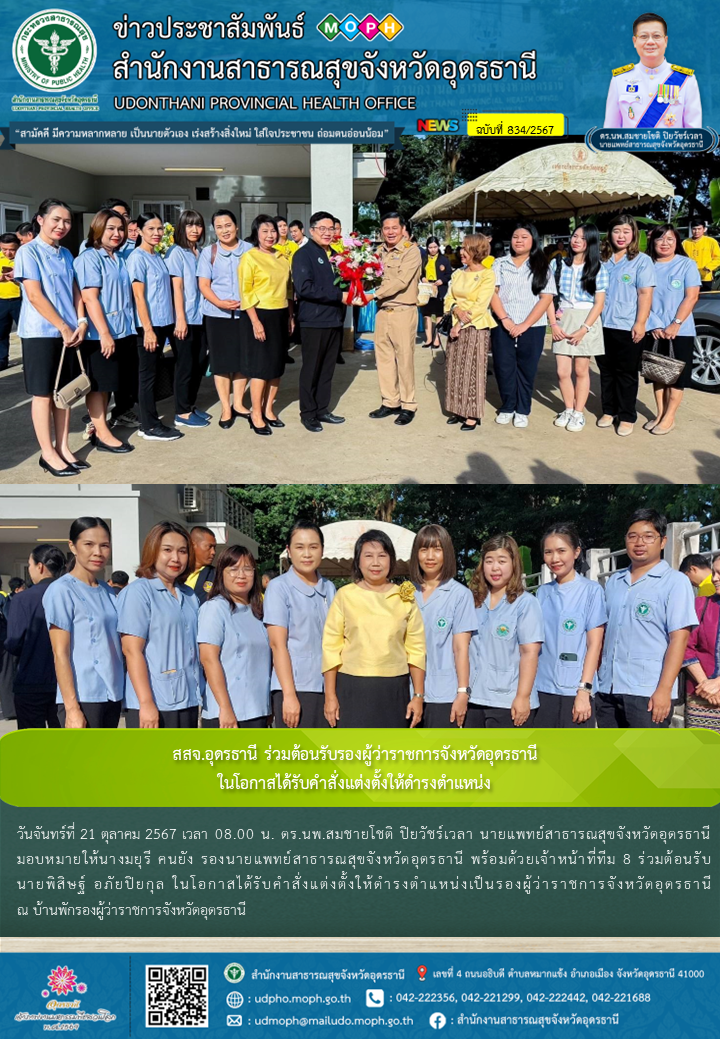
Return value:
[[(355, 543), (353, 583), (339, 589), (323, 634), (325, 718), (331, 726), (401, 729), (422, 719), (426, 640), (410, 581), (390, 580), (395, 550), (381, 530)], [(410, 694), (412, 677), (413, 695)]]

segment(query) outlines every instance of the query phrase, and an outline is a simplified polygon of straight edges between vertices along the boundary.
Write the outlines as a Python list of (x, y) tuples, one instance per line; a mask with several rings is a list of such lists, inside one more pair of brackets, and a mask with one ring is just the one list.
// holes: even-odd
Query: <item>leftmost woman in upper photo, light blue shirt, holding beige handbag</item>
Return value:
[(70, 409), (53, 404), (60, 358), (59, 385), (65, 386), (79, 372), (75, 352), (87, 332), (73, 257), (60, 245), (72, 224), (66, 203), (45, 199), (33, 222), (36, 236), (20, 246), (15, 259), (15, 280), (23, 286), (18, 335), (23, 343), (25, 390), (32, 394), (32, 425), (41, 449), (38, 464), (52, 476), (77, 476), (80, 469), (88, 468), (70, 450)]

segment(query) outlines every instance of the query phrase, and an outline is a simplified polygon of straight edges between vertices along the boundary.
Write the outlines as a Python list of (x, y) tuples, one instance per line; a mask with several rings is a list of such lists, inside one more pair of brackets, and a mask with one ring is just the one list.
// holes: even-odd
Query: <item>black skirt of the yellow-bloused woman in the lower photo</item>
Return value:
[(407, 729), (410, 676), (337, 673), (338, 729)]

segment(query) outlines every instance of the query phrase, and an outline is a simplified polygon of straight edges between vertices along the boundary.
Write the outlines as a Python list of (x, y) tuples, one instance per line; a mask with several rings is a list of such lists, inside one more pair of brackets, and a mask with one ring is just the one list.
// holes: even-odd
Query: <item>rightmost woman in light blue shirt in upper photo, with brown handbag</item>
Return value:
[[(655, 288), (647, 328), (652, 349), (666, 357), (672, 350), (685, 368), (671, 387), (653, 385), (658, 415), (643, 426), (655, 437), (675, 428), (675, 414), (683, 392), (691, 386), (695, 321), (693, 308), (700, 294), (700, 272), (694, 260), (686, 255), (683, 240), (671, 224), (653, 228), (647, 241), (647, 252), (654, 261)], [(646, 381), (649, 382), (649, 381)]]

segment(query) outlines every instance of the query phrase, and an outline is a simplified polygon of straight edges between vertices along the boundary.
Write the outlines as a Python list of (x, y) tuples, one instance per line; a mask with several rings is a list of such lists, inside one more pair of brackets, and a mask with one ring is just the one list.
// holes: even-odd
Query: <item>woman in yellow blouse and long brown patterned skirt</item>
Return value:
[(474, 430), (485, 415), (490, 313), (495, 276), (484, 266), (490, 252), (485, 235), (466, 235), (462, 244), (465, 268), (456, 270), (445, 296), (445, 314), (453, 315), (447, 340), (445, 411), (448, 425), (460, 422), (463, 432)]

